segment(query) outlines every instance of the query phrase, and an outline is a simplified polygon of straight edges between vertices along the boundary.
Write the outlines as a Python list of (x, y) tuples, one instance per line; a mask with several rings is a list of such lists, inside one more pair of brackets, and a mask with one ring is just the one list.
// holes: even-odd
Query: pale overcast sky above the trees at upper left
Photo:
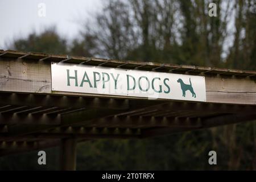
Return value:
[(71, 40), (79, 35), (86, 19), (101, 9), (102, 0), (0, 0), (0, 49), (50, 26)]

